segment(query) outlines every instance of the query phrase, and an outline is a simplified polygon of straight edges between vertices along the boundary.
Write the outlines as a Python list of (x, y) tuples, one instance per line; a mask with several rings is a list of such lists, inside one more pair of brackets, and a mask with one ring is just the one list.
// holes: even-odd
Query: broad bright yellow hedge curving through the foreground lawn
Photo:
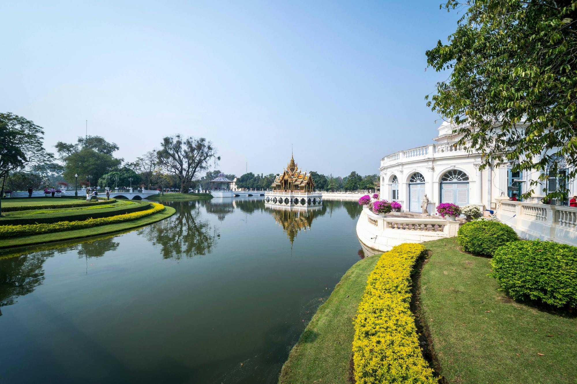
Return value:
[(358, 384), (437, 383), (423, 358), (410, 310), (411, 271), (425, 247), (400, 244), (370, 273), (354, 321), (354, 375)]

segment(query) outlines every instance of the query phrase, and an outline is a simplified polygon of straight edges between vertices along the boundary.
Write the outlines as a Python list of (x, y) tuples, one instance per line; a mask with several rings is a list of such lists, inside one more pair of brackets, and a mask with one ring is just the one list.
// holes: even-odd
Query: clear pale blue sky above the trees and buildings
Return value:
[(227, 174), (377, 174), (429, 144), (447, 73), (425, 51), (455, 31), (429, 1), (3, 1), (0, 111), (45, 146), (85, 134), (134, 161), (166, 135), (205, 137)]

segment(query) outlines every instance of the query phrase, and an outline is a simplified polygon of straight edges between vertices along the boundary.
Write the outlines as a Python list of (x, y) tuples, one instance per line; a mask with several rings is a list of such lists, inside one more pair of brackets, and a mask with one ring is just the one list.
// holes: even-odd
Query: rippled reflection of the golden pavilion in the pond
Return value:
[(264, 206), (270, 209), (272, 217), (275, 218), (276, 222), (283, 228), (283, 231), (286, 232), (291, 244), (297, 237), (298, 232), (310, 229), (310, 224), (322, 208), (320, 205), (288, 206), (267, 202), (265, 202)]

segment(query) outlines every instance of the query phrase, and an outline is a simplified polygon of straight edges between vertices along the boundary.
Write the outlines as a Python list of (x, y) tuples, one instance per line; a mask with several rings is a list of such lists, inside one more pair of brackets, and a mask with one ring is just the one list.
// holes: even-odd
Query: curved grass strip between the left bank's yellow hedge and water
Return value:
[[(108, 224), (102, 225), (100, 227), (85, 228), (85, 229), (74, 229), (73, 231), (63, 231), (63, 232), (53, 232), (50, 234), (43, 235), (32, 235), (32, 236), (22, 236), (19, 238), (10, 238), (0, 240), (0, 248), (6, 247), (17, 247), (31, 244), (42, 244), (48, 242), (58, 242), (62, 240), (80, 239), (87, 238), (89, 236), (111, 234), (113, 232), (126, 231), (127, 229), (133, 229), (138, 227), (143, 227), (144, 225), (155, 223), (172, 216), (176, 210), (170, 206), (164, 206), (164, 210), (151, 214), (150, 216), (143, 217), (141, 219), (124, 221), (118, 224)], [(21, 253), (20, 253), (21, 254)], [(13, 257), (20, 255), (10, 254), (2, 256), (1, 258)]]

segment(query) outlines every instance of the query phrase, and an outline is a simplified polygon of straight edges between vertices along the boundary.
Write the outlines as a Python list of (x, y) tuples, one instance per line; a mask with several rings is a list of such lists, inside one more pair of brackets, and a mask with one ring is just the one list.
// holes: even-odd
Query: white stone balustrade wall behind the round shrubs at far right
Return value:
[(577, 208), (509, 200), (498, 204), (497, 219), (511, 225), (522, 238), (577, 246)]

